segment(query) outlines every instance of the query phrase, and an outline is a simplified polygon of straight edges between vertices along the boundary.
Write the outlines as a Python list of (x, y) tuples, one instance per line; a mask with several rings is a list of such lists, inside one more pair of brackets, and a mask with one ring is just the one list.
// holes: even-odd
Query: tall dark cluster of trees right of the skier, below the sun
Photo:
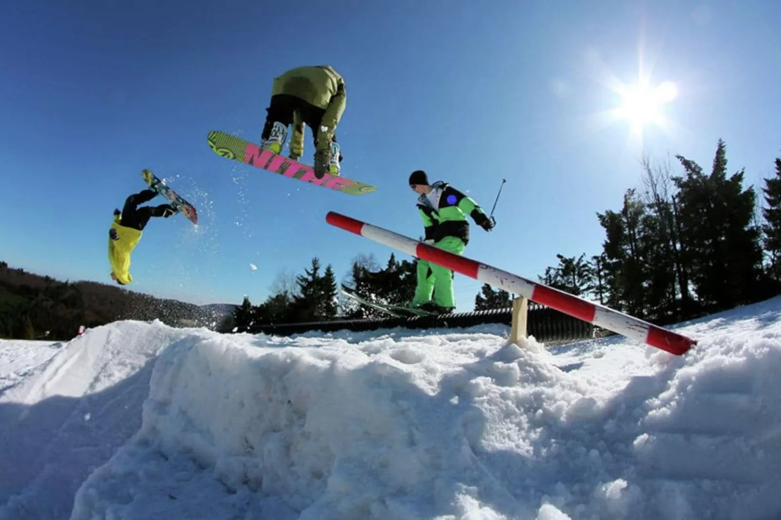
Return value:
[(709, 172), (675, 158), (679, 175), (644, 157), (644, 187), (597, 213), (602, 251), (556, 255), (540, 282), (658, 324), (779, 294), (781, 158), (764, 179), (764, 204), (744, 187), (744, 169), (728, 172), (721, 139)]

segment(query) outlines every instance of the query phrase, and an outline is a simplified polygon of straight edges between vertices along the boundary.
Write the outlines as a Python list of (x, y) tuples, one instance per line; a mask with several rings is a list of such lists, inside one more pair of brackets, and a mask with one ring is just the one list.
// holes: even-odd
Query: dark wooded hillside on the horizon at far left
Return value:
[[(70, 340), (79, 326), (159, 319), (218, 329), (235, 305), (194, 305), (97, 282), (62, 282), (0, 262), (0, 337)], [(48, 334), (47, 334), (48, 331)]]

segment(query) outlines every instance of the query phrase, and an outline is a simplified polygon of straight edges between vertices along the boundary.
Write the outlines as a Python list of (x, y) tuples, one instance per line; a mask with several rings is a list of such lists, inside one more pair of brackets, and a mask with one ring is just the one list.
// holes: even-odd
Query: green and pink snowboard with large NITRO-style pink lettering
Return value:
[(333, 176), (326, 173), (322, 179), (315, 176), (312, 166), (306, 166), (284, 155), (276, 155), (270, 150), (261, 150), (257, 144), (244, 141), (240, 137), (214, 130), (207, 137), (209, 148), (217, 155), (244, 162), (256, 168), (265, 169), (271, 173), (316, 184), (333, 191), (341, 191), (348, 195), (364, 195), (376, 191), (376, 186), (348, 179), (343, 176)]

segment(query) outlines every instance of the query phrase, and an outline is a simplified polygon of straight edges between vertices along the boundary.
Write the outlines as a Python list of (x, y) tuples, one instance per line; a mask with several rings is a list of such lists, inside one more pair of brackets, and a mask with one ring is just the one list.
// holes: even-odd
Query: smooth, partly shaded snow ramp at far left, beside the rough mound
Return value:
[(45, 364), (0, 396), (0, 518), (67, 518), (87, 475), (141, 427), (155, 356), (175, 336), (123, 322), (38, 349)]

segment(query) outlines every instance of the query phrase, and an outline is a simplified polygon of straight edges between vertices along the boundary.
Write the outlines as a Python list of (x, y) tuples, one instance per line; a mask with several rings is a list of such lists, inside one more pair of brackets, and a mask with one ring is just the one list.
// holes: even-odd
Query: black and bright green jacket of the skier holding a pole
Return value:
[[(487, 219), (483, 208), (441, 180), (431, 185), (433, 191), (418, 198), (418, 209), (423, 219), (426, 240), (439, 242), (444, 237), (458, 237), (469, 243), (469, 215), (480, 226)], [(433, 199), (433, 200), (432, 200)]]

